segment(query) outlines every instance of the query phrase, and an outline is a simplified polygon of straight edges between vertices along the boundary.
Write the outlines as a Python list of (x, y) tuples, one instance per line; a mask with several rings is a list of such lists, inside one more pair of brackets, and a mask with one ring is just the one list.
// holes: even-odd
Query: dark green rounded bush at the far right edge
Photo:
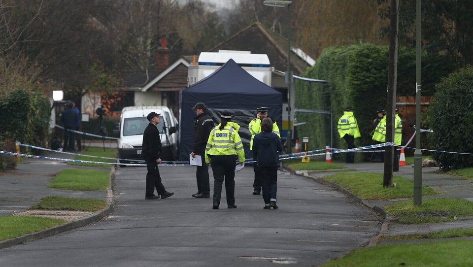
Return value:
[[(431, 148), (439, 151), (473, 153), (473, 67), (451, 73), (436, 86), (437, 93), (427, 110), (433, 133)], [(434, 152), (443, 170), (473, 166), (472, 155)]]

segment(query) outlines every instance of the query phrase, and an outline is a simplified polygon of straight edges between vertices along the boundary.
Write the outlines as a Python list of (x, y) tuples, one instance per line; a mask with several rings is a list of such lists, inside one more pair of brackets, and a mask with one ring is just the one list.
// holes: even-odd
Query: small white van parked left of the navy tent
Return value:
[[(120, 122), (113, 130), (118, 139), (118, 158), (120, 163), (136, 163), (144, 161), (141, 157), (143, 132), (149, 121), (146, 116), (150, 112), (161, 114), (157, 126), (161, 133), (161, 159), (174, 161), (177, 159), (177, 120), (167, 106), (127, 106), (122, 109)], [(125, 160), (123, 160), (125, 159)]]

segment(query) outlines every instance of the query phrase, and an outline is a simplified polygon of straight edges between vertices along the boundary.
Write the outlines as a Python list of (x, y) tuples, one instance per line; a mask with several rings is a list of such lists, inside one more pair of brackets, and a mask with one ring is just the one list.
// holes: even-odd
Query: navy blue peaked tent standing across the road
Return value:
[(260, 82), (230, 59), (211, 75), (189, 86), (179, 93), (179, 160), (189, 160), (194, 143), (194, 118), (192, 107), (203, 102), (215, 126), (220, 123), (220, 114), (231, 111), (233, 122), (240, 125), (238, 134), (243, 142), (245, 158), (252, 159), (251, 134), (248, 124), (256, 118), (256, 108), (269, 107), (269, 117), (281, 129), (282, 94)]

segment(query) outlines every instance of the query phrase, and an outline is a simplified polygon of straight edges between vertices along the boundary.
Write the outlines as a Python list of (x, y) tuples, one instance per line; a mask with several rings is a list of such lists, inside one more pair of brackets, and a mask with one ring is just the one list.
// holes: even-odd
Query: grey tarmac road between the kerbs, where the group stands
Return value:
[(366, 246), (382, 224), (370, 208), (309, 177), (279, 172), (280, 208), (265, 210), (245, 167), (236, 175), (238, 208), (222, 199), (213, 210), (211, 199), (191, 197), (194, 167), (160, 170), (174, 196), (144, 200), (146, 168), (119, 168), (109, 216), (1, 249), (0, 266), (319, 266)]

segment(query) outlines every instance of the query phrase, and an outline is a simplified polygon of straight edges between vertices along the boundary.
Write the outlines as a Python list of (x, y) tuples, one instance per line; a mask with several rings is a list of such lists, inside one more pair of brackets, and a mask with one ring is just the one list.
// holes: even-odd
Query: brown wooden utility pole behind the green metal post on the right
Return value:
[[(389, 27), (388, 96), (386, 102), (386, 142), (394, 142), (394, 115), (396, 108), (396, 80), (398, 72), (398, 11), (399, 0), (391, 0)], [(394, 146), (385, 146), (383, 186), (393, 186)]]

